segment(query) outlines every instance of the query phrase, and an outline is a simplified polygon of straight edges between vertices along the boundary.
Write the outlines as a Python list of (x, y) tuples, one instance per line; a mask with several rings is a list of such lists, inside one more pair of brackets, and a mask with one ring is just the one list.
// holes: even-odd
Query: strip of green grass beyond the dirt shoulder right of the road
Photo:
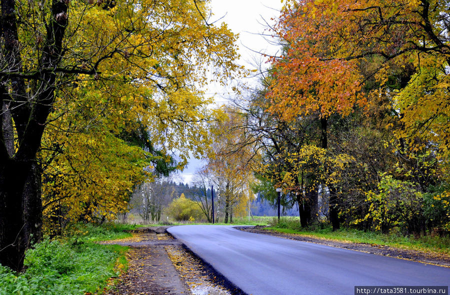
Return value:
[(281, 218), (279, 223), (277, 223), (276, 220), (272, 221), (271, 224), (272, 226), (265, 229), (339, 241), (387, 245), (397, 248), (414, 249), (450, 255), (450, 236), (425, 235), (421, 237), (414, 237), (412, 235), (402, 236), (395, 233), (382, 234), (379, 232), (356, 229), (340, 229), (332, 231), (331, 226), (323, 224), (316, 228), (302, 229), (298, 220), (289, 220), (288, 218)]

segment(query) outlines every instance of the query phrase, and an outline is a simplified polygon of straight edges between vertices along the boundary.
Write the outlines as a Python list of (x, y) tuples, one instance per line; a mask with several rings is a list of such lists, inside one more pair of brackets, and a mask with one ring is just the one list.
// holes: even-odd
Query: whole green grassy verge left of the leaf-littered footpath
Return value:
[(101, 291), (125, 270), (127, 247), (94, 241), (130, 236), (129, 225), (76, 225), (66, 237), (45, 239), (26, 252), (23, 273), (0, 265), (0, 295), (83, 294)]

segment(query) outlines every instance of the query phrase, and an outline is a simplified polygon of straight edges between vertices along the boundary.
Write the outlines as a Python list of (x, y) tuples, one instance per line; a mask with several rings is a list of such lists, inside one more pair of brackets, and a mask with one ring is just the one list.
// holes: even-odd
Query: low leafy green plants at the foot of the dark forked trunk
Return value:
[(117, 257), (118, 251), (105, 245), (46, 239), (26, 252), (24, 273), (0, 265), (0, 294), (94, 293), (116, 274)]

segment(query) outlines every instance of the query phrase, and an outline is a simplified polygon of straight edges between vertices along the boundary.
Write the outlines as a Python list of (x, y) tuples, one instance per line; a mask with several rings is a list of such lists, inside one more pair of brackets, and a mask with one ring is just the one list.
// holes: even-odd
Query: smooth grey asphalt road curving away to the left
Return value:
[(353, 294), (354, 286), (448, 286), (450, 268), (244, 232), (226, 225), (167, 229), (244, 292)]

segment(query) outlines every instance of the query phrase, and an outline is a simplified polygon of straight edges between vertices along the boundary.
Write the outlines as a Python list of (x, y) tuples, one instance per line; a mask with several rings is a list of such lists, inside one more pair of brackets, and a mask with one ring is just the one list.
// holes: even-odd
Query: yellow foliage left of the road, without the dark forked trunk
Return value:
[[(19, 6), (35, 14), (37, 34), (42, 5)], [(124, 133), (144, 126), (161, 159), (179, 154), (178, 168), (189, 152), (205, 152), (206, 124), (220, 112), (207, 107), (211, 98), (201, 88), (242, 71), (234, 62), (236, 36), (225, 24), (207, 25), (208, 10), (207, 1), (70, 1), (61, 57), (70, 73), (59, 76), (39, 153), (48, 230), (55, 222), (114, 219), (128, 209), (133, 187), (151, 180), (155, 156)], [(33, 52), (34, 40), (23, 44)], [(37, 59), (23, 60), (39, 70)]]

